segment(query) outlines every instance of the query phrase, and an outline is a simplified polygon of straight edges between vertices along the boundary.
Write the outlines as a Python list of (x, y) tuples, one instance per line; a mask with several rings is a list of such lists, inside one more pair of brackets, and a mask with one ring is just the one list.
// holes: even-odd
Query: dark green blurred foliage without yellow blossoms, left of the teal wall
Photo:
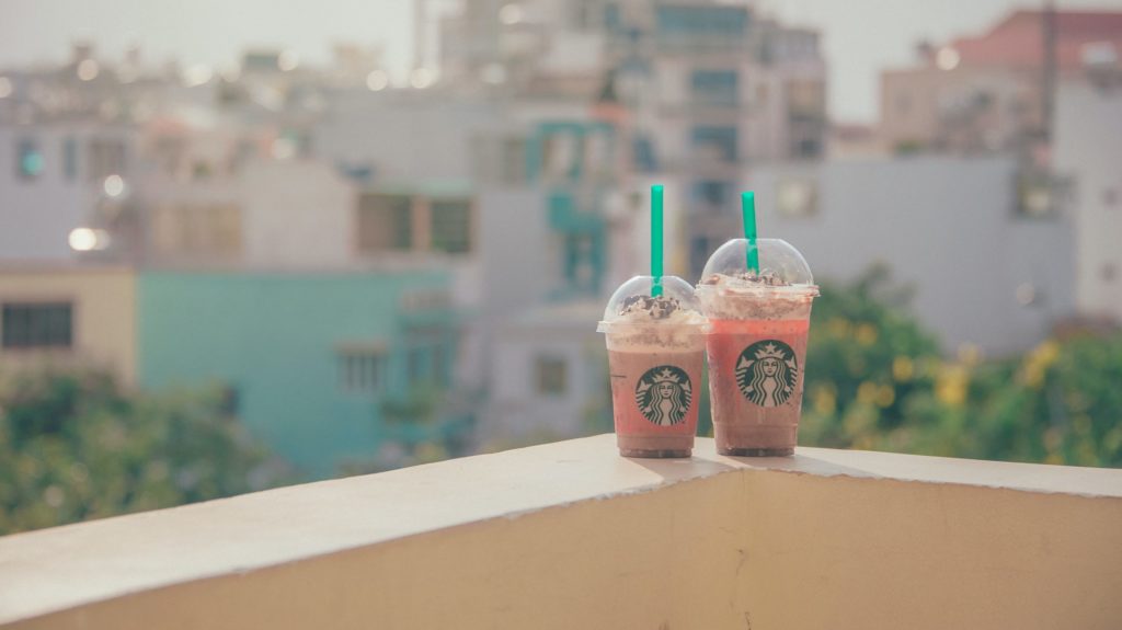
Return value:
[(275, 485), (221, 391), (125, 393), (100, 372), (0, 380), (0, 534)]

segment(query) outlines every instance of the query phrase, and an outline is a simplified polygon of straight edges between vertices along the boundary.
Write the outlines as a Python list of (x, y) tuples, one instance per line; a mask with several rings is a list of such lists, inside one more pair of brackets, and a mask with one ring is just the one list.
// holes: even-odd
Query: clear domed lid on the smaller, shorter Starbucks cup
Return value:
[(604, 319), (596, 327), (606, 333), (616, 325), (696, 325), (705, 326), (693, 287), (677, 276), (662, 277), (662, 295), (652, 296), (654, 278), (635, 276), (619, 285), (608, 299)]

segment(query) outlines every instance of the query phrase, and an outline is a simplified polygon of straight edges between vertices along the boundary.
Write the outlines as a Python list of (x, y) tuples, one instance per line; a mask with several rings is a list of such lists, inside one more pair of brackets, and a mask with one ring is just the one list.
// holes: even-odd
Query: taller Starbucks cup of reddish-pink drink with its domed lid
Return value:
[(802, 411), (810, 306), (818, 295), (810, 266), (779, 239), (756, 240), (760, 272), (745, 266), (746, 239), (709, 258), (697, 297), (710, 331), (709, 396), (717, 452), (794, 453)]

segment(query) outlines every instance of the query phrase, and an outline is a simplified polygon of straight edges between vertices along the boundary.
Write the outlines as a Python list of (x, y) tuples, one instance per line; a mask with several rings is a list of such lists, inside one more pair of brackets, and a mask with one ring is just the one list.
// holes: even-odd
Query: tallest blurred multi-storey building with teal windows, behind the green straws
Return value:
[(448, 81), (616, 108), (625, 196), (652, 179), (681, 191), (668, 198), (668, 249), (688, 252), (670, 260), (682, 275), (727, 238), (709, 217), (735, 204), (741, 173), (825, 152), (818, 33), (746, 2), (466, 0), (441, 33)]

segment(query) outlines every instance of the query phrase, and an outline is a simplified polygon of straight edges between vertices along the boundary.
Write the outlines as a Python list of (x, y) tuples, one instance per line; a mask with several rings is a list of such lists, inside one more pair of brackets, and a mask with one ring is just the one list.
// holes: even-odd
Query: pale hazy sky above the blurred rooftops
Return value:
[[(447, 3), (447, 1), (445, 1)], [(1061, 9), (1112, 8), (1091, 0)], [(830, 64), (830, 108), (843, 121), (872, 121), (877, 74), (912, 58), (920, 38), (977, 33), (1017, 7), (1015, 0), (758, 0), (780, 18), (824, 33)], [(150, 61), (232, 66), (247, 45), (283, 46), (302, 59), (330, 56), (332, 41), (380, 45), (392, 68), (412, 50), (412, 0), (0, 0), (0, 67), (65, 58), (70, 40), (90, 36), (118, 56), (139, 43)]]

